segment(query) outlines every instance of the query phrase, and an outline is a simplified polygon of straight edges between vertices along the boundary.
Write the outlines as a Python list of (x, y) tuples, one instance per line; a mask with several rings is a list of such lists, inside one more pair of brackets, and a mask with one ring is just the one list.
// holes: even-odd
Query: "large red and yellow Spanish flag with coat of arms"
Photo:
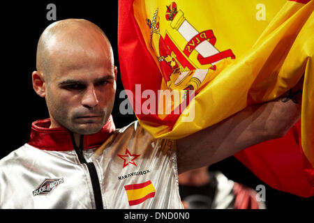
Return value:
[(140, 124), (156, 138), (186, 137), (304, 76), (300, 123), (235, 156), (271, 187), (313, 196), (313, 9), (313, 0), (119, 1), (121, 79)]

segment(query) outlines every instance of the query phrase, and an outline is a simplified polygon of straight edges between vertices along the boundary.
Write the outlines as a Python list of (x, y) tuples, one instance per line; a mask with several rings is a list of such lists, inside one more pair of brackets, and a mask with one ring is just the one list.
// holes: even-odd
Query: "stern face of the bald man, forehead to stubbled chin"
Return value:
[(99, 132), (107, 122), (116, 91), (112, 55), (101, 47), (52, 52), (54, 65), (46, 81), (46, 102), (52, 128), (77, 134)]

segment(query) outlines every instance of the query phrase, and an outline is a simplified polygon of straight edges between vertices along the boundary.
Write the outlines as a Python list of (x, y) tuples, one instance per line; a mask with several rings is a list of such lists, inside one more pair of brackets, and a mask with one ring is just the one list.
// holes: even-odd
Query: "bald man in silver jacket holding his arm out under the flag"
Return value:
[(36, 66), (33, 89), (50, 118), (0, 161), (0, 208), (183, 208), (178, 174), (281, 137), (300, 116), (300, 103), (276, 100), (177, 141), (137, 121), (116, 130), (112, 48), (86, 20), (48, 26)]

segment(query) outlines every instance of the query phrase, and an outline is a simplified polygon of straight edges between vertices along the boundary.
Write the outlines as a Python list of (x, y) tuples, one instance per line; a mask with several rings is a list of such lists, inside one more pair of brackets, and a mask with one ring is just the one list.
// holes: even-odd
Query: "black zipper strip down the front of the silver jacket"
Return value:
[(72, 143), (75, 149), (75, 153), (77, 154), (77, 157), (80, 160), (80, 163), (86, 164), (87, 169), (89, 169), (89, 176), (91, 177), (91, 185), (94, 191), (96, 209), (103, 209), (103, 198), (101, 196), (100, 183), (99, 183), (99, 178), (97, 175), (95, 164), (93, 162), (87, 162), (83, 155), (83, 136), (81, 136), (81, 139), (80, 139), (80, 147), (77, 147), (74, 137), (73, 137), (73, 133), (70, 132), (70, 135), (71, 135)]

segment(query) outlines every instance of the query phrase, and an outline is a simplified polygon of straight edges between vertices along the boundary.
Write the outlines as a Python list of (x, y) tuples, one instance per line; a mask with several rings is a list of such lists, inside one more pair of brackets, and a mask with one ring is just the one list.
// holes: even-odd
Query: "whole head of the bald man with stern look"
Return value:
[(40, 36), (33, 89), (45, 98), (50, 128), (94, 134), (112, 112), (117, 68), (105, 33), (87, 20), (61, 20)]

